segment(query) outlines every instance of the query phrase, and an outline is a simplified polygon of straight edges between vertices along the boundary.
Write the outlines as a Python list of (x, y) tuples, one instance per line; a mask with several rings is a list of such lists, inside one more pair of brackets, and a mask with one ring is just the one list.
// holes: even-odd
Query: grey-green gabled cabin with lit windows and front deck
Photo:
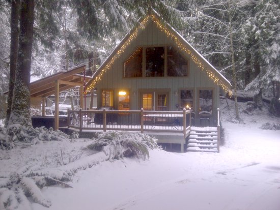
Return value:
[[(99, 122), (101, 127), (95, 129), (169, 131), (158, 134), (159, 142), (180, 143), (182, 151), (191, 126), (217, 128), (219, 95), (231, 94), (231, 83), (151, 10), (87, 83), (86, 90), (92, 89), (97, 91), (97, 107), (109, 107), (111, 117), (104, 116), (103, 108), (95, 112), (101, 114), (101, 120), (83, 114), (80, 120), (86, 120), (87, 125)], [(131, 117), (134, 114), (137, 116)], [(135, 124), (138, 127), (132, 128)], [(184, 135), (180, 140), (166, 137), (181, 128)]]

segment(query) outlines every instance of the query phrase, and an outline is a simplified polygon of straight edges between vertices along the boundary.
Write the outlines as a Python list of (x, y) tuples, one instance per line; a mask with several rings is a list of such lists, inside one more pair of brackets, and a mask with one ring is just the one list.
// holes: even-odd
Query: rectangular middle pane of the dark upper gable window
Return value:
[(164, 76), (164, 47), (146, 48), (146, 77)]

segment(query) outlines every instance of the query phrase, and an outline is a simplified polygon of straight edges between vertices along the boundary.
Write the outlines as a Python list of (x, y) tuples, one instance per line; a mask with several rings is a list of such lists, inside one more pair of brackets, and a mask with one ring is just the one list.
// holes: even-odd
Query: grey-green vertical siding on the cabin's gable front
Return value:
[[(206, 75), (205, 71), (201, 71), (195, 65), (190, 56), (186, 54), (189, 61), (189, 71), (187, 77), (157, 77), (157, 78), (123, 78), (123, 64), (125, 60), (137, 49), (139, 46), (166, 46), (172, 45), (176, 47), (176, 43), (170, 37), (167, 37), (164, 32), (161, 32), (157, 26), (150, 21), (145, 31), (139, 31), (139, 34), (126, 50), (117, 59), (114, 65), (103, 75), (101, 81), (98, 82), (98, 105), (101, 105), (101, 90), (114, 89), (115, 102), (118, 104), (117, 91), (120, 88), (126, 88), (130, 91), (131, 109), (138, 109), (139, 93), (138, 89), (170, 89), (169, 91), (169, 107), (171, 110), (176, 110), (176, 104), (179, 103), (180, 89), (191, 88), (194, 91), (194, 105), (195, 109), (198, 107), (198, 89), (201, 87), (213, 88), (213, 93), (216, 98), (213, 100), (213, 105), (216, 108), (218, 105), (218, 87)], [(145, 50), (145, 49), (144, 49)], [(145, 66), (145, 63), (143, 62)], [(135, 93), (135, 95), (133, 95)], [(175, 95), (177, 93), (177, 96)]]

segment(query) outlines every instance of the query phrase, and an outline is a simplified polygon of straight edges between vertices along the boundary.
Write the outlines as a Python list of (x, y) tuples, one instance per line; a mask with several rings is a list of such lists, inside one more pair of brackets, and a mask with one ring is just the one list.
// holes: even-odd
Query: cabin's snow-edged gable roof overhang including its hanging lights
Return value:
[(120, 42), (120, 44), (111, 52), (104, 63), (98, 68), (92, 79), (86, 84), (86, 91), (90, 91), (96, 86), (96, 83), (101, 80), (103, 74), (115, 63), (116, 59), (125, 51), (127, 46), (138, 36), (140, 31), (144, 31), (148, 25), (148, 21), (153, 21), (156, 26), (163, 31), (167, 37), (175, 40), (177, 47), (183, 52), (190, 55), (192, 61), (205, 71), (206, 74), (216, 84), (218, 84), (225, 92), (232, 94), (231, 83), (218, 70), (215, 69), (197, 50), (195, 50), (179, 33), (175, 31), (169, 24), (163, 24), (162, 18), (155, 10), (150, 10), (150, 14), (139, 19), (139, 25), (131, 30)]

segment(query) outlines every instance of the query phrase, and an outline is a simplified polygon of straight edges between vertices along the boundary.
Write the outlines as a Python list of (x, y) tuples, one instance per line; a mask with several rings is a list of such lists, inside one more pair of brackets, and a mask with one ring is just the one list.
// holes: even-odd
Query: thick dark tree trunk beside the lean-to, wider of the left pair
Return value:
[(33, 41), (34, 0), (23, 0), (20, 7), (17, 68), (9, 125), (31, 127), (30, 71)]

